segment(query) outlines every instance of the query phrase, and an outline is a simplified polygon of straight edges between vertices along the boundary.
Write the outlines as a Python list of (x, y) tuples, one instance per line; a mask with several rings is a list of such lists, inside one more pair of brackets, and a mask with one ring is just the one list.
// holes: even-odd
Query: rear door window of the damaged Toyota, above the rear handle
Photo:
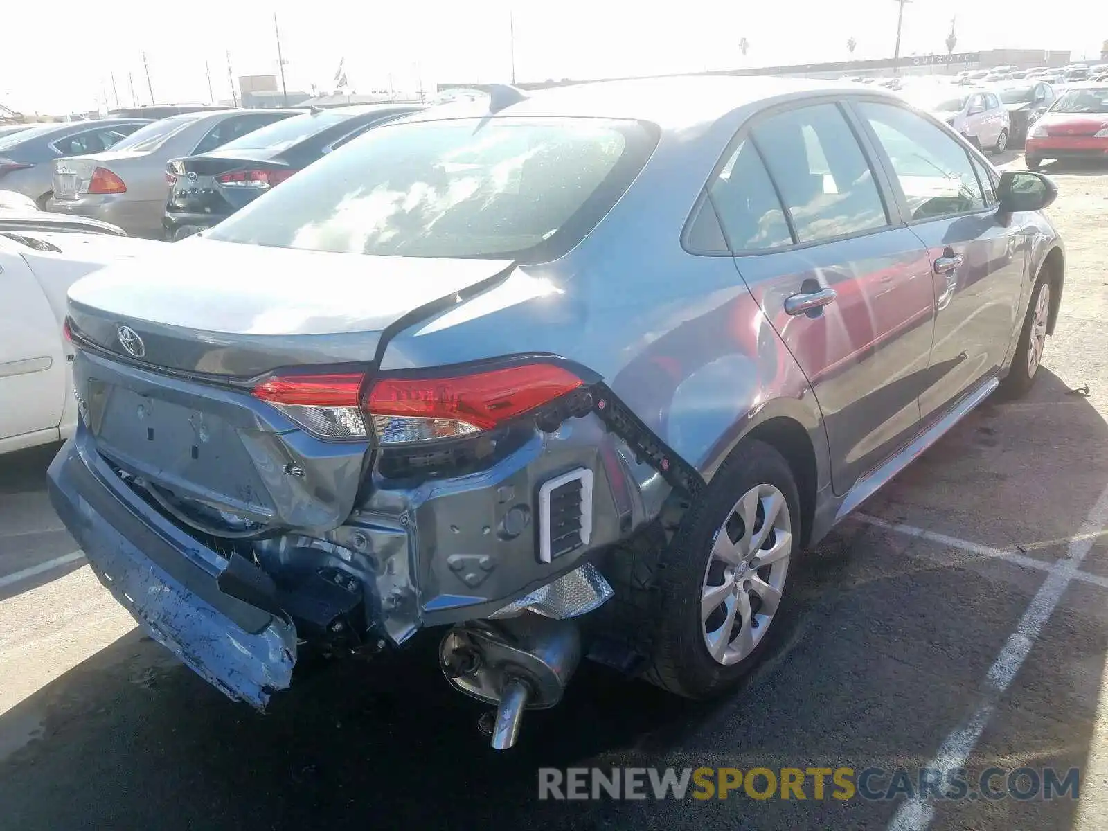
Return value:
[(766, 119), (755, 127), (753, 137), (798, 242), (831, 239), (889, 224), (873, 172), (834, 104)]

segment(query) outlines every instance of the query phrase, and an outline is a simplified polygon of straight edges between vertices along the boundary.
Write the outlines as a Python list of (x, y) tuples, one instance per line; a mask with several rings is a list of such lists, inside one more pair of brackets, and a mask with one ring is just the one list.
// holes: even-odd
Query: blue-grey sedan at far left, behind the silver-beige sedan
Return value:
[(102, 153), (150, 119), (102, 119), (39, 124), (0, 135), (0, 188), (16, 191), (45, 207), (52, 195), (50, 163), (78, 153)]

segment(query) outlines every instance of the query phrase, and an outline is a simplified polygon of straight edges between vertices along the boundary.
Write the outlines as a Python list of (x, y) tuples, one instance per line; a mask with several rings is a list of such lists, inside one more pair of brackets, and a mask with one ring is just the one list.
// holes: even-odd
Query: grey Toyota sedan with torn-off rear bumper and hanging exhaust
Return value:
[(259, 709), (306, 649), (427, 627), (497, 748), (583, 657), (718, 695), (793, 555), (1030, 387), (1054, 194), (856, 86), (431, 109), (72, 287), (51, 496), (153, 637)]

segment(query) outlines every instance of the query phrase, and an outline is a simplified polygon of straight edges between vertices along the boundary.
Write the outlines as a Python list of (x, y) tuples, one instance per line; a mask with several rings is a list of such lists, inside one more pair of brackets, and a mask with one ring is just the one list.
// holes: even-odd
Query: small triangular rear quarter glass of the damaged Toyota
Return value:
[[(709, 186), (708, 195), (716, 206), (732, 252), (792, 245), (792, 235), (789, 233), (781, 202), (777, 198), (773, 183), (766, 173), (758, 150), (750, 142), (743, 141), (727, 160), (724, 170)], [(704, 218), (697, 217), (694, 232), (702, 224)], [(702, 228), (700, 236), (704, 236)], [(691, 235), (689, 242), (694, 242)]]

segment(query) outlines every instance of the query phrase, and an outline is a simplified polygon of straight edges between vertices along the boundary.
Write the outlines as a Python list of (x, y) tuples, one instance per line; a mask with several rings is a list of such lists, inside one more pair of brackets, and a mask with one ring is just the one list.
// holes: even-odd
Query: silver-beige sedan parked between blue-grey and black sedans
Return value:
[(131, 236), (161, 239), (171, 158), (207, 153), (298, 110), (225, 110), (174, 115), (148, 124), (111, 152), (53, 165), (47, 209), (119, 225)]

